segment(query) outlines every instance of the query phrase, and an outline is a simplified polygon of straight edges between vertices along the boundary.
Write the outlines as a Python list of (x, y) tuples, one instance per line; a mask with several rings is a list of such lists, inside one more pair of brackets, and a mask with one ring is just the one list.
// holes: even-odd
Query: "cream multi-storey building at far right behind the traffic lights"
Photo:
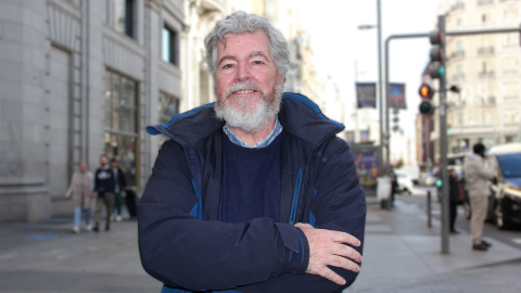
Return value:
[[(516, 28), (521, 22), (521, 1), (442, 1), (446, 30)], [(521, 47), (519, 33), (446, 36), (447, 150), (469, 151), (476, 142), (487, 148), (520, 141)], [(434, 115), (436, 161), (439, 116)]]

